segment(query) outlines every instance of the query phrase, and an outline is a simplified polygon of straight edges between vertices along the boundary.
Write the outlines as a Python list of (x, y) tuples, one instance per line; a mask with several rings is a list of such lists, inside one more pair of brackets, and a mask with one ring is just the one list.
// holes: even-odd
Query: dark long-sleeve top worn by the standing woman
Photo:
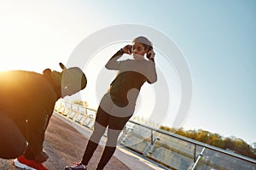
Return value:
[(125, 107), (135, 104), (144, 82), (157, 81), (154, 60), (126, 59), (118, 61), (124, 53), (118, 51), (105, 65), (109, 70), (119, 71), (110, 85), (109, 92), (115, 105)]

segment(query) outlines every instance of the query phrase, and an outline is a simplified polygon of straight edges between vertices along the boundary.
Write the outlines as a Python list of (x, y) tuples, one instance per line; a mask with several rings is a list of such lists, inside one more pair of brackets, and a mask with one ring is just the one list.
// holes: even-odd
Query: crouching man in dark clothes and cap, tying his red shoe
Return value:
[(78, 67), (0, 72), (0, 158), (15, 159), (15, 166), (47, 170), (43, 162), (44, 133), (55, 102), (84, 89), (87, 79)]

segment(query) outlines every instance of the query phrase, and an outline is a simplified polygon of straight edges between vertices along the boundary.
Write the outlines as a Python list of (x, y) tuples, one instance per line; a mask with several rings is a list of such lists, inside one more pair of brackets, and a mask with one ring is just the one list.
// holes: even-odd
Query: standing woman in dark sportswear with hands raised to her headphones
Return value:
[[(119, 59), (123, 54), (132, 54), (134, 59)], [(148, 59), (145, 59), (145, 54)], [(82, 161), (66, 169), (86, 169), (108, 127), (108, 141), (96, 168), (97, 170), (103, 169), (113, 156), (119, 133), (134, 113), (137, 96), (143, 83), (153, 83), (157, 80), (153, 46), (146, 37), (137, 37), (132, 41), (132, 45), (121, 48), (108, 60), (106, 68), (117, 70), (118, 74), (110, 84), (108, 92), (102, 97), (96, 112), (94, 131), (90, 136)]]

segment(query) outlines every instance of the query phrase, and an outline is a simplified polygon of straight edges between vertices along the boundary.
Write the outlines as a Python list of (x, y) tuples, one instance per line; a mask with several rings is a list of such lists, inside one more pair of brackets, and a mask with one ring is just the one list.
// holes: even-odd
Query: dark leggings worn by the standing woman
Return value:
[(104, 148), (101, 156), (101, 160), (97, 166), (97, 169), (103, 169), (113, 156), (114, 150), (116, 149), (117, 139), (119, 133), (125, 127), (126, 122), (129, 121), (131, 116), (117, 117), (109, 115), (108, 112), (103, 111), (99, 106), (96, 112), (96, 122), (94, 124), (94, 131), (90, 136), (90, 140), (84, 151), (83, 160), (81, 161), (84, 165), (87, 165), (93, 155), (96, 147), (98, 146), (102, 135), (105, 133), (108, 127), (108, 141)]

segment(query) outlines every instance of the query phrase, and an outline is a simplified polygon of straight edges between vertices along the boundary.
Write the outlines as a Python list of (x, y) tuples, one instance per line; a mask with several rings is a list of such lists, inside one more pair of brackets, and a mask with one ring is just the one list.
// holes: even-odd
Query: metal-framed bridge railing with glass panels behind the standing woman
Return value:
[[(81, 126), (93, 128), (96, 110), (61, 100), (55, 111)], [(165, 169), (256, 170), (254, 159), (134, 121), (127, 122), (119, 136), (119, 146)]]

